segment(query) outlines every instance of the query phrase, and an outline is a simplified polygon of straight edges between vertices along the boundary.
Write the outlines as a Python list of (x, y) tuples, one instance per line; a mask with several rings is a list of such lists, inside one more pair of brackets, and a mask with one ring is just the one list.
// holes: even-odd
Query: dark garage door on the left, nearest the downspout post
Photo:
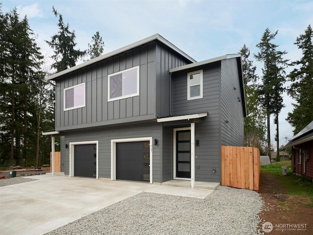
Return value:
[(79, 144), (74, 146), (74, 176), (96, 177), (96, 144)]

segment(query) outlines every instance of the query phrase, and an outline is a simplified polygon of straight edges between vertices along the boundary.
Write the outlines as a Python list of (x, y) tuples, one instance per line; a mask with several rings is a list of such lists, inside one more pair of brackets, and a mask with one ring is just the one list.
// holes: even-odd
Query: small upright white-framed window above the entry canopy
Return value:
[(187, 100), (203, 97), (203, 70), (187, 73)]

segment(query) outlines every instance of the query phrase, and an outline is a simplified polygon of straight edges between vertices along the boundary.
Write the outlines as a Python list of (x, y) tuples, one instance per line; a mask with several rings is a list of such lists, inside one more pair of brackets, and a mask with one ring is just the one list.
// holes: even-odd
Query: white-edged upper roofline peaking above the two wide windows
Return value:
[(127, 51), (127, 50), (130, 50), (134, 47), (138, 47), (138, 46), (141, 46), (143, 44), (146, 44), (146, 43), (149, 43), (149, 42), (152, 42), (154, 40), (158, 40), (160, 41), (161, 43), (165, 44), (166, 46), (170, 47), (171, 49), (173, 49), (174, 51), (178, 52), (180, 55), (184, 56), (186, 59), (190, 60), (191, 62), (195, 63), (197, 62), (196, 60), (194, 60), (193, 58), (191, 58), (189, 55), (187, 55), (185, 52), (183, 52), (182, 50), (180, 50), (178, 47), (174, 46), (172, 43), (170, 43), (169, 41), (167, 41), (165, 38), (163, 38), (161, 35), (159, 34), (154, 34), (150, 37), (147, 37), (147, 38), (144, 38), (138, 42), (135, 42), (135, 43), (132, 43), (128, 46), (125, 46), (125, 47), (121, 47), (119, 49), (116, 49), (116, 50), (113, 50), (107, 54), (104, 54), (104, 55), (101, 55), (101, 56), (98, 56), (94, 59), (91, 59), (89, 61), (86, 61), (82, 64), (79, 64), (79, 65), (76, 65), (76, 66), (73, 66), (71, 68), (68, 68), (67, 70), (64, 70), (64, 71), (61, 71), (61, 72), (57, 72), (55, 74), (52, 74), (51, 76), (48, 76), (46, 77), (46, 80), (53, 80), (59, 76), (62, 76), (62, 75), (65, 75), (69, 72), (72, 72), (72, 71), (76, 71), (78, 69), (81, 69), (83, 67), (86, 67), (88, 65), (91, 65), (91, 64), (94, 64), (98, 61), (101, 61), (103, 59), (106, 59), (106, 58), (109, 58), (111, 56), (114, 56), (114, 55), (117, 55), (119, 53), (122, 53), (124, 51)]

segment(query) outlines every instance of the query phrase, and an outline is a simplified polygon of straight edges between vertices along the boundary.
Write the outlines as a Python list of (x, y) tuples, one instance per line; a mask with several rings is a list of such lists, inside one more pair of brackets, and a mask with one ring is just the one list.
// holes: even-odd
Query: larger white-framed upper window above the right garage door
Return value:
[(109, 75), (108, 101), (136, 95), (139, 95), (139, 66)]

